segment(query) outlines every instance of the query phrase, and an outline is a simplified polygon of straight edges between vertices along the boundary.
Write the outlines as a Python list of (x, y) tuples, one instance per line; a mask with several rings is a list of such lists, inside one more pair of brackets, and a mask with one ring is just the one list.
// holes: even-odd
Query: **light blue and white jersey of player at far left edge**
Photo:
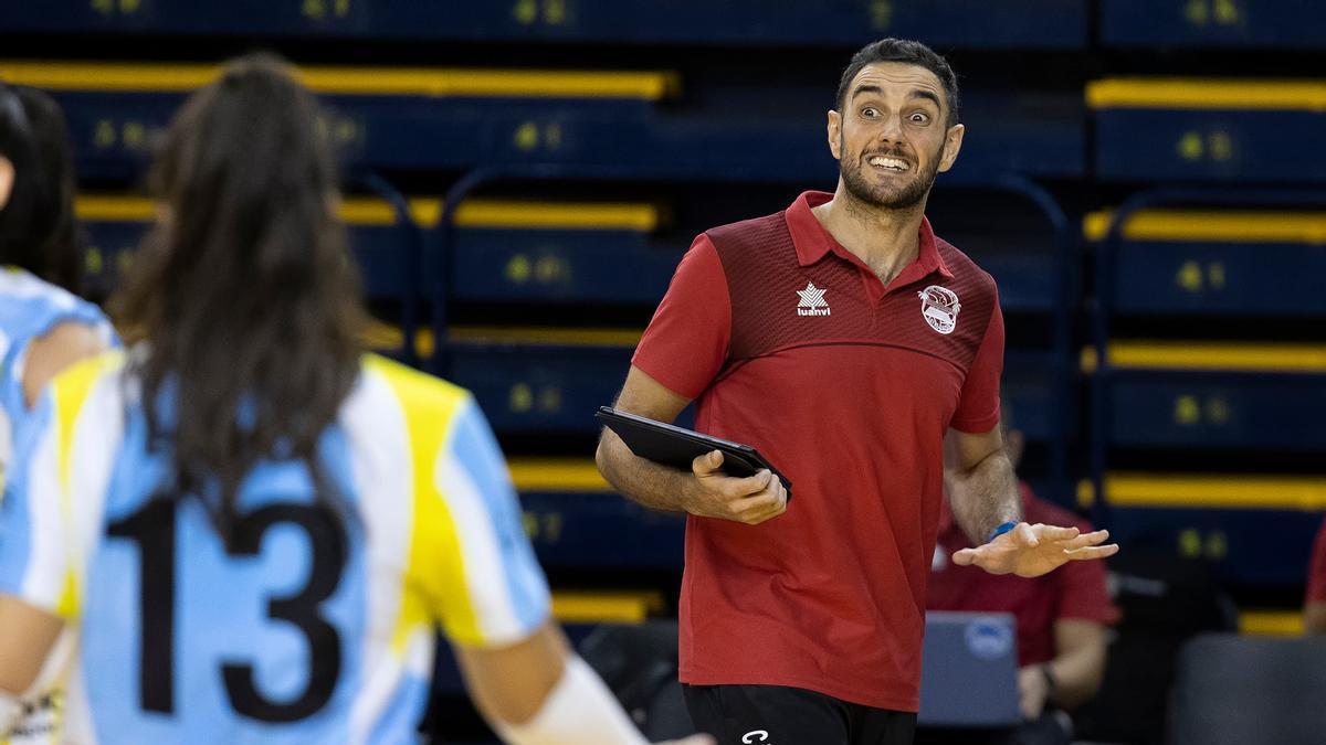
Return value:
[(114, 341), (110, 322), (95, 305), (23, 269), (0, 269), (0, 487), (17, 430), (28, 419), (23, 394), (28, 347), (65, 322), (95, 327), (107, 346)]

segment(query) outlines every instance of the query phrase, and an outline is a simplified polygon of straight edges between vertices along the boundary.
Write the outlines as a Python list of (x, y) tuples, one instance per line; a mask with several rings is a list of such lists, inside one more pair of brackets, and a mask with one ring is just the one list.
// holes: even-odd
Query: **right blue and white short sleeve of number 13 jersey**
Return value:
[(436, 463), (459, 549), (459, 587), (435, 598), (447, 636), (491, 647), (520, 642), (552, 614), (548, 581), (525, 536), (507, 463), (472, 398), (455, 415)]

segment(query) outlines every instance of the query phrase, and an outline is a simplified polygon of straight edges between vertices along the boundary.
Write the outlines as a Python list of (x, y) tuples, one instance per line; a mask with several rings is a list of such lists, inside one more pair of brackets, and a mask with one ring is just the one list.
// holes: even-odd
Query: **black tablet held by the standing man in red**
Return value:
[(594, 416), (605, 427), (617, 432), (626, 447), (631, 448), (631, 452), (639, 457), (690, 471), (691, 461), (696, 457), (709, 451), (720, 451), (723, 452), (723, 471), (728, 476), (744, 479), (768, 468), (778, 477), (778, 481), (782, 481), (782, 488), (788, 490), (788, 500), (792, 500), (792, 481), (788, 481), (786, 476), (780, 473), (751, 445), (711, 437), (674, 424), (617, 411), (607, 406), (601, 406)]

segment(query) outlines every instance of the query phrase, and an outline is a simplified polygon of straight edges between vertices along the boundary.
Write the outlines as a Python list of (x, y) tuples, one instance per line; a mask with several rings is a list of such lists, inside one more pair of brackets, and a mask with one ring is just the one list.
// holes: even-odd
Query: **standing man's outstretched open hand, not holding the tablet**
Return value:
[(1113, 557), (1119, 553), (1119, 545), (1101, 545), (1109, 537), (1109, 530), (1081, 533), (1077, 528), (1018, 522), (984, 546), (955, 553), (953, 563), (975, 563), (991, 574), (1040, 577), (1070, 561)]

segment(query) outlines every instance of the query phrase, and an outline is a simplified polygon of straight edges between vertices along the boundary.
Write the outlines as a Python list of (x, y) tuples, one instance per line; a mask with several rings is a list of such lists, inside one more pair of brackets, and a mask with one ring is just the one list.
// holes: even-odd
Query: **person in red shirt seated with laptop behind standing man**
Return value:
[[(1022, 432), (1013, 410), (1000, 407), (1004, 449), (1017, 469)], [(1021, 484), (1022, 517), (1030, 522), (1091, 526), (1066, 509), (1041, 501)], [(991, 577), (971, 566), (956, 566), (953, 555), (967, 547), (967, 536), (949, 509), (939, 518), (939, 544), (930, 578), (930, 610), (1012, 612), (1017, 619), (1018, 693), (1025, 722), (1014, 732), (989, 738), (971, 733), (963, 745), (988, 742), (1067, 745), (1073, 740), (1071, 711), (1095, 696), (1105, 677), (1106, 628), (1118, 611), (1110, 603), (1105, 566), (1073, 562), (1041, 577)]]

